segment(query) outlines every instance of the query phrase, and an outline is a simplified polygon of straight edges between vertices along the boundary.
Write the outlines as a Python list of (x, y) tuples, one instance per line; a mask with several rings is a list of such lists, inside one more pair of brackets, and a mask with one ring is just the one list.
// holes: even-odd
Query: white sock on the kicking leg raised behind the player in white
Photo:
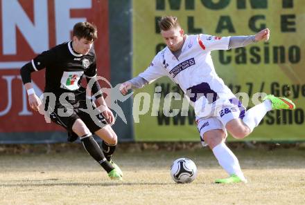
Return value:
[(245, 112), (243, 122), (250, 128), (251, 133), (253, 129), (259, 125), (265, 114), (270, 110), (272, 110), (272, 104), (270, 99), (267, 99)]

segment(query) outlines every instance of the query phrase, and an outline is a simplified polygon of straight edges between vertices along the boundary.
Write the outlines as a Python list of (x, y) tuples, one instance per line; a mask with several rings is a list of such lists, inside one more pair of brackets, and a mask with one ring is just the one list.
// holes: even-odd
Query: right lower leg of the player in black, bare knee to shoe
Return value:
[(116, 150), (116, 144), (118, 142), (118, 137), (116, 136), (116, 133), (114, 133), (114, 130), (110, 125), (107, 125), (95, 132), (98, 137), (100, 137), (103, 142), (102, 142), (102, 150), (103, 154), (105, 155), (107, 162), (112, 164), (114, 167), (114, 171), (121, 175), (123, 177), (123, 172), (117, 164), (115, 164), (112, 160), (112, 155), (114, 151)]

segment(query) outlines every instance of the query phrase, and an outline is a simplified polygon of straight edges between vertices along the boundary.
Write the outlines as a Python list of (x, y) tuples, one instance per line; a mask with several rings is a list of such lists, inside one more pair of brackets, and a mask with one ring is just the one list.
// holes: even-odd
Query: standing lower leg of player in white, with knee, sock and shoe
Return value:
[(241, 166), (239, 165), (237, 157), (227, 147), (224, 142), (226, 133), (223, 130), (209, 130), (204, 133), (204, 141), (209, 145), (209, 148), (213, 151), (218, 163), (222, 166), (225, 171), (229, 174), (226, 179), (216, 179), (215, 183), (236, 183), (236, 182), (247, 182)]

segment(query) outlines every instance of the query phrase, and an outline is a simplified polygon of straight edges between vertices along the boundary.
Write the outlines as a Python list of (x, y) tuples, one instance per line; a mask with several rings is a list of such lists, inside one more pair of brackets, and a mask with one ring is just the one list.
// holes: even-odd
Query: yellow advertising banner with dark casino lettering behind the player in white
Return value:
[[(133, 75), (145, 70), (165, 46), (157, 21), (176, 16), (187, 34), (220, 37), (254, 35), (270, 29), (270, 40), (243, 48), (212, 51), (218, 75), (232, 92), (250, 96), (257, 92), (286, 96), (295, 110), (272, 110), (245, 140), (303, 141), (305, 108), (305, 1), (303, 0), (134, 0), (132, 2)], [(161, 86), (162, 90), (159, 90)], [(166, 77), (134, 92), (134, 135), (137, 141), (198, 141), (193, 108), (187, 116), (166, 117), (163, 108), (168, 92), (180, 88)], [(160, 99), (159, 107), (153, 106)], [(253, 98), (252, 98), (253, 97)], [(155, 99), (155, 101), (154, 101)], [(171, 108), (182, 107), (172, 99)], [(234, 140), (229, 137), (228, 140)]]

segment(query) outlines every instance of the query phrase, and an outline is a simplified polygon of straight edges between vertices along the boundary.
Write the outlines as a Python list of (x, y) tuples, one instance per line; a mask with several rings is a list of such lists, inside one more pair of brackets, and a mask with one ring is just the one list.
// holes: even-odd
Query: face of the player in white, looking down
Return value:
[(161, 35), (166, 43), (166, 46), (168, 46), (171, 51), (176, 51), (182, 48), (184, 30), (181, 28), (162, 30)]

